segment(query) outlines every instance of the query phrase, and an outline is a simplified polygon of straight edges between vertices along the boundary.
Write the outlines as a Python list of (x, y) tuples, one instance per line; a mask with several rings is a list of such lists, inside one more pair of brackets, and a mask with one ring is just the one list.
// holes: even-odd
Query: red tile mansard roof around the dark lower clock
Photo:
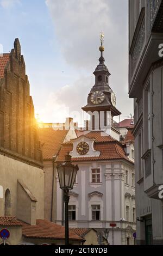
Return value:
[[(93, 161), (93, 160), (116, 160), (116, 159), (125, 159), (130, 161), (126, 156), (126, 153), (123, 149), (122, 143), (116, 141), (116, 139), (111, 136), (100, 137), (101, 132), (90, 132), (85, 137), (87, 138), (96, 138), (94, 148), (97, 151), (100, 151), (101, 154), (99, 157), (92, 156), (80, 156), (72, 157), (72, 161)], [(73, 141), (62, 144), (62, 148), (57, 157), (57, 162), (62, 162), (65, 160), (65, 155), (70, 153), (73, 150)], [(70, 153), (71, 155), (71, 153)]]

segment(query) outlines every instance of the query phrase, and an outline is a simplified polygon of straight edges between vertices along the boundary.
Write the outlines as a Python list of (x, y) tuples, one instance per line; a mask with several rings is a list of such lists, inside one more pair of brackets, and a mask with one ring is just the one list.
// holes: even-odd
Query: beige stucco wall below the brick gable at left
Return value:
[(0, 170), (0, 186), (3, 187), (3, 198), (0, 198), (0, 216), (4, 216), (4, 195), (7, 188), (11, 192), (11, 215), (17, 216), (17, 180), (20, 179), (37, 199), (36, 218), (43, 219), (43, 170), (3, 155), (0, 155)]

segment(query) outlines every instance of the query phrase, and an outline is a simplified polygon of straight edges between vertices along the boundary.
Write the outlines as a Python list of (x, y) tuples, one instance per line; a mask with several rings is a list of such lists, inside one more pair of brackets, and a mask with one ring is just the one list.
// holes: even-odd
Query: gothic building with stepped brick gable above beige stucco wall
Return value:
[(43, 218), (43, 164), (18, 39), (0, 57), (0, 216)]

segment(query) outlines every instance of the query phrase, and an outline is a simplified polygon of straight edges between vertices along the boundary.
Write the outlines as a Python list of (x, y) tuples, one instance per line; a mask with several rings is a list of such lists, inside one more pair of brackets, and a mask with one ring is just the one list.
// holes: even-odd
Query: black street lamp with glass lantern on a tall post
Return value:
[(61, 190), (64, 191), (64, 202), (65, 202), (65, 245), (69, 243), (69, 231), (68, 231), (68, 202), (70, 197), (68, 196), (69, 190), (73, 189), (73, 184), (76, 179), (78, 172), (78, 166), (74, 166), (71, 163), (71, 156), (67, 154), (65, 156), (65, 162), (60, 163), (57, 166), (59, 184)]

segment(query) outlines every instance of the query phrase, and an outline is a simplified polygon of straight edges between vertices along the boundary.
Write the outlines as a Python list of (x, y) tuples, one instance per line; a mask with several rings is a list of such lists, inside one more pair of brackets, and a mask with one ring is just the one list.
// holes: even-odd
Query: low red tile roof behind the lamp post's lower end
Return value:
[[(29, 225), (22, 222), (22, 234), (30, 238), (64, 240), (65, 227), (47, 220), (36, 220), (36, 225)], [(70, 240), (83, 240), (72, 229), (69, 230), (69, 237)]]

